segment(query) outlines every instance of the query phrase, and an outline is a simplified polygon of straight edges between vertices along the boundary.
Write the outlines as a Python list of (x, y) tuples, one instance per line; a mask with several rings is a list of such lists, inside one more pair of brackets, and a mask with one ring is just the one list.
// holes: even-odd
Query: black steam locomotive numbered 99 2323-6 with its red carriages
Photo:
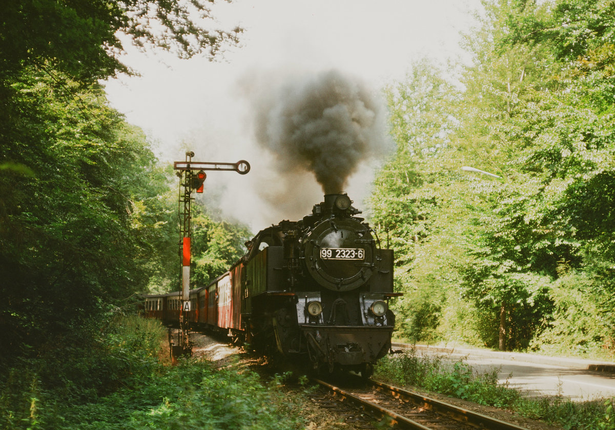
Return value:
[[(391, 349), (389, 299), (400, 294), (393, 251), (357, 214), (346, 193), (327, 194), (300, 221), (261, 230), (228, 272), (191, 290), (189, 321), (266, 356), (370, 376)], [(145, 296), (146, 313), (178, 321), (180, 294)]]

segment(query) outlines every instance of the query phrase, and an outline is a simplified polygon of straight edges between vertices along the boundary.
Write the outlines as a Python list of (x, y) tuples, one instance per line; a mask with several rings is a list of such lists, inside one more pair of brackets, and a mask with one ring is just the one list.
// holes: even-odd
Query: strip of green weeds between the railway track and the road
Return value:
[(613, 399), (573, 402), (558, 395), (522, 396), (508, 382), (498, 382), (498, 369), (477, 372), (464, 359), (424, 356), (411, 349), (387, 356), (375, 369), (378, 380), (415, 386), (481, 405), (504, 408), (527, 418), (545, 421), (569, 430), (615, 430)]

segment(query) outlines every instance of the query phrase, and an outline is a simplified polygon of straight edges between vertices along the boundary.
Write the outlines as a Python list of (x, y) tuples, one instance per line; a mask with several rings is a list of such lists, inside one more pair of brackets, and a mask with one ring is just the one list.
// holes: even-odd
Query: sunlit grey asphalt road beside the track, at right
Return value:
[(454, 361), (463, 357), (478, 372), (498, 369), (501, 383), (508, 381), (511, 388), (528, 396), (563, 396), (573, 401), (615, 397), (615, 363), (423, 345), (417, 345), (417, 350)]

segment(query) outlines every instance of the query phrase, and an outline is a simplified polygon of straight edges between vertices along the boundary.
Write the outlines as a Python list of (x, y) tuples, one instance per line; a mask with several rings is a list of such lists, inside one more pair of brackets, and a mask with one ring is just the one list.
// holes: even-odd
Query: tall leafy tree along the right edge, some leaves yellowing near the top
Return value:
[[(549, 85), (527, 109), (517, 136), (526, 143), (526, 169), (551, 190), (543, 230), (552, 232), (557, 244), (558, 286), (568, 287), (571, 296), (582, 291), (591, 297), (593, 304), (585, 308), (598, 310), (594, 318), (604, 321), (601, 327), (613, 327), (615, 2), (560, 0), (550, 10), (508, 19), (502, 47), (538, 47), (554, 59)], [(554, 327), (565, 318), (589, 321), (585, 310), (571, 315), (571, 303), (558, 299)], [(613, 348), (612, 329), (586, 328)]]

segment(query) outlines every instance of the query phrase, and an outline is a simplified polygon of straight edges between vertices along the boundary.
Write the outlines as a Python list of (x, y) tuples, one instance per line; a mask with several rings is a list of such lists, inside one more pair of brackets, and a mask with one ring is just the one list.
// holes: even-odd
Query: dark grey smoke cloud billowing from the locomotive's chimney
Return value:
[(340, 192), (362, 162), (390, 149), (382, 102), (359, 80), (338, 71), (269, 78), (248, 90), (257, 94), (256, 138), (274, 154), (283, 180), (307, 171), (325, 193)]

